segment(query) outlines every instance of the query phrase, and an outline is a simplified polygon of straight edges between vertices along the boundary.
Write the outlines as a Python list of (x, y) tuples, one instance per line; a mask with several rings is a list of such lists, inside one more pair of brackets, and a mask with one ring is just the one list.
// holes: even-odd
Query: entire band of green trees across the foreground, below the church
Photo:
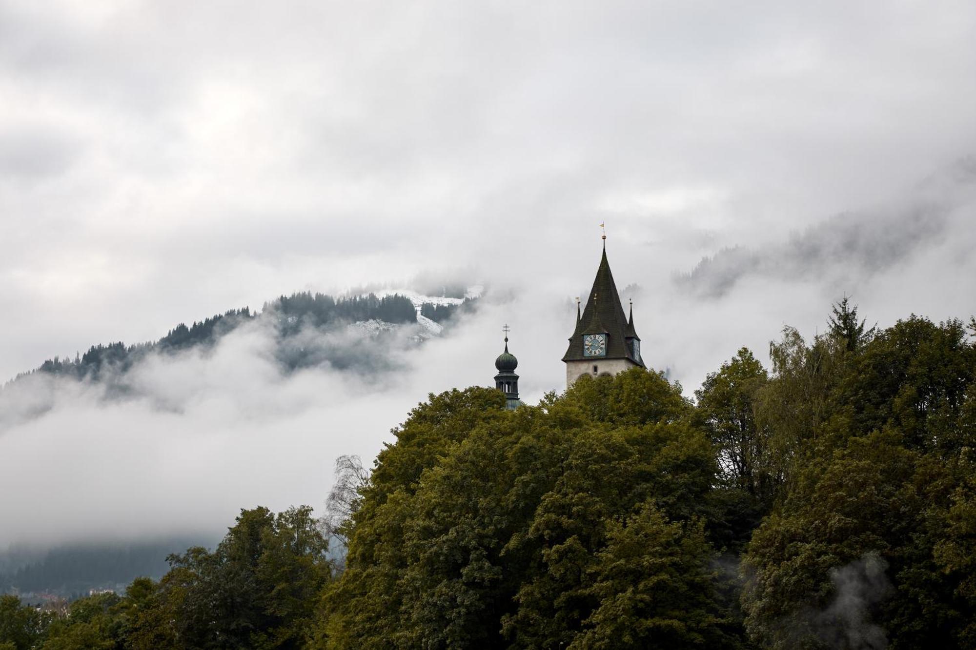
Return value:
[(843, 301), (770, 357), (694, 402), (640, 369), (516, 411), (431, 395), (372, 472), (346, 459), (324, 528), (242, 511), (124, 597), (0, 602), (0, 647), (976, 647), (966, 328)]

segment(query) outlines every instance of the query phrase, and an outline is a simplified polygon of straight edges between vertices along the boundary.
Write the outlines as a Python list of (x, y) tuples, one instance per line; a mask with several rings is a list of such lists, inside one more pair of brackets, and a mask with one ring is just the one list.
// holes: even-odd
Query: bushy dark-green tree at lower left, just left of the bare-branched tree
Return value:
[(133, 647), (299, 648), (331, 579), (311, 508), (241, 510), (213, 552), (171, 555), (159, 582), (134, 583)]

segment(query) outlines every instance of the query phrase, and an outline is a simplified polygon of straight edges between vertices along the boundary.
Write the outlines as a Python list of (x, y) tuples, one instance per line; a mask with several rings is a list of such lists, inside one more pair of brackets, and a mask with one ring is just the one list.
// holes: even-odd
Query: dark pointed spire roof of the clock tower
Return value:
[(596, 269), (593, 288), (590, 289), (590, 298), (587, 300), (582, 317), (576, 323), (576, 331), (569, 339), (569, 348), (562, 357), (563, 361), (590, 361), (594, 358), (583, 355), (583, 335), (596, 333), (594, 326), (602, 328), (599, 331), (607, 334), (607, 354), (598, 358), (630, 359), (638, 366), (644, 367), (643, 361), (633, 358), (630, 345), (627, 345), (627, 339), (639, 340), (639, 337), (633, 329), (632, 312), (630, 322), (624, 314), (624, 305), (620, 303), (620, 294), (617, 293), (613, 273), (610, 272), (605, 247), (599, 268)]

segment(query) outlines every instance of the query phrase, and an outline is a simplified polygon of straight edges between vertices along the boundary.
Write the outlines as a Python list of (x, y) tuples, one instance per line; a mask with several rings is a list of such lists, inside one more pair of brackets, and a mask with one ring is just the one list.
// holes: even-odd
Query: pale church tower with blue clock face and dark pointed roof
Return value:
[(616, 375), (629, 368), (645, 367), (640, 358), (640, 337), (633, 328), (633, 305), (628, 317), (607, 262), (606, 238), (604, 234), (603, 257), (582, 314), (577, 299), (576, 330), (562, 357), (567, 388), (583, 375)]

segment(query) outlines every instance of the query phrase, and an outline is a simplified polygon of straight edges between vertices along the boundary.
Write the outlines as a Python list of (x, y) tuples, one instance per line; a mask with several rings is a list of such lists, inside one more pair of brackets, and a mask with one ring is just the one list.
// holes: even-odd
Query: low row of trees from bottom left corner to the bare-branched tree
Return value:
[(0, 596), (0, 650), (298, 647), (331, 578), (310, 508), (244, 510), (213, 551), (170, 555), (158, 582), (75, 600), (66, 612)]

